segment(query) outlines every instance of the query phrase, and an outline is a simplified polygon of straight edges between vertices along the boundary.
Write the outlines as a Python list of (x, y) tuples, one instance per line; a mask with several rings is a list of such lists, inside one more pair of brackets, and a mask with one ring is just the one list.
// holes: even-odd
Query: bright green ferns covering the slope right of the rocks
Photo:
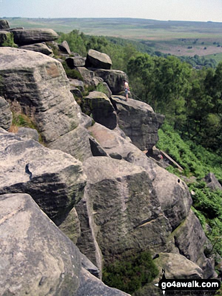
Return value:
[[(212, 250), (222, 256), (222, 191), (212, 191), (202, 178), (209, 172), (213, 172), (218, 181), (222, 183), (222, 156), (209, 152), (194, 142), (181, 139), (169, 125), (164, 125), (159, 131), (160, 140), (157, 146), (166, 151), (183, 168), (183, 175), (188, 177), (195, 176), (196, 181), (187, 182), (192, 196), (195, 214), (201, 221), (203, 229), (206, 231), (206, 223), (211, 227), (211, 231), (206, 231), (212, 243)], [(178, 175), (181, 172), (170, 168), (171, 172)], [(209, 254), (211, 255), (211, 254)]]

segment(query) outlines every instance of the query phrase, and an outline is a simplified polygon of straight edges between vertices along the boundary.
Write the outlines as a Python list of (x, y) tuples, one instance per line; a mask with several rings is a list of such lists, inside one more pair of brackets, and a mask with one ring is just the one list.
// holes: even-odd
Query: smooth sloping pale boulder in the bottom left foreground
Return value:
[(87, 259), (31, 196), (0, 196), (0, 220), (1, 295), (128, 295), (81, 267)]

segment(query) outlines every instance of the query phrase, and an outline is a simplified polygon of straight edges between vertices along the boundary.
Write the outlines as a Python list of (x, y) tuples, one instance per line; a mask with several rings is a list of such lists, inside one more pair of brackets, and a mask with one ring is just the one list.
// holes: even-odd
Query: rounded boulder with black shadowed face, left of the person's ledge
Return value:
[(89, 110), (95, 122), (107, 127), (108, 129), (115, 129), (117, 126), (117, 116), (114, 112), (113, 105), (110, 99), (102, 92), (90, 92), (81, 102), (81, 107), (84, 112)]

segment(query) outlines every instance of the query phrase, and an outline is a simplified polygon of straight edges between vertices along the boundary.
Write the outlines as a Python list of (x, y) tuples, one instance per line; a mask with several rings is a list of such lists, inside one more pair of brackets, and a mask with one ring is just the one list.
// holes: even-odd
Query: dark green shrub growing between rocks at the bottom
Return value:
[(131, 294), (151, 282), (158, 273), (150, 253), (142, 252), (107, 265), (103, 270), (103, 282)]

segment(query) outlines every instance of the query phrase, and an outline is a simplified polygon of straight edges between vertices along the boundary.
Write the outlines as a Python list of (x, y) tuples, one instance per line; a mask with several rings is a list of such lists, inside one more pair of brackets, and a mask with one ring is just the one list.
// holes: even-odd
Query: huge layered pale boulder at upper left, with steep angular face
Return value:
[[(61, 63), (39, 52), (10, 47), (0, 48), (0, 58), (0, 91), (5, 98), (17, 102), (26, 115), (32, 116), (46, 144), (64, 135), (68, 139), (69, 132), (80, 127), (82, 113), (70, 93)], [(66, 143), (66, 147), (70, 146), (67, 153), (78, 142), (78, 139), (71, 142), (72, 135)], [(83, 145), (78, 152), (90, 157), (87, 133), (80, 135), (80, 141)], [(62, 147), (59, 149), (64, 151)]]

